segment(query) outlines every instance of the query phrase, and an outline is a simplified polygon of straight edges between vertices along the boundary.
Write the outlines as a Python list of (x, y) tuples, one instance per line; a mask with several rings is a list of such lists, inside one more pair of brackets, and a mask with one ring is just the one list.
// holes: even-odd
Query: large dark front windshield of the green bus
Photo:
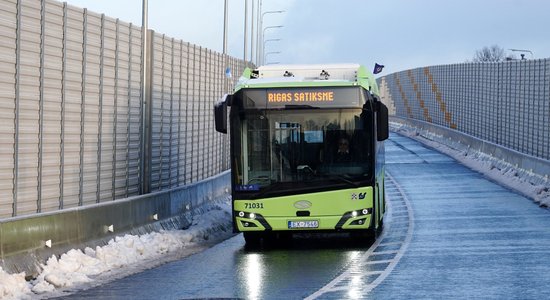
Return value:
[(246, 197), (358, 187), (373, 173), (361, 108), (248, 109), (232, 132), (233, 181)]

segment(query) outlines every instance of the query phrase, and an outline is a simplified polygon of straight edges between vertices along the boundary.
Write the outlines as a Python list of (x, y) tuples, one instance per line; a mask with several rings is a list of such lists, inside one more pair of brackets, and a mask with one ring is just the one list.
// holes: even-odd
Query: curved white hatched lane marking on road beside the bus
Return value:
[[(399, 248), (399, 250), (397, 251), (381, 251), (381, 252), (376, 252), (376, 249), (381, 245), (381, 241), (385, 238), (385, 236), (388, 234), (389, 232), (389, 227), (391, 226), (391, 224), (388, 224), (390, 226), (388, 227), (384, 227), (383, 229), (383, 232), (382, 234), (380, 235), (380, 237), (374, 242), (374, 244), (362, 255), (361, 259), (360, 259), (360, 264), (364, 264), (364, 265), (372, 265), (374, 264), (374, 262), (376, 261), (367, 261), (367, 259), (371, 256), (371, 255), (379, 255), (379, 254), (394, 254), (396, 253), (395, 257), (391, 260), (384, 260), (384, 262), (388, 263), (388, 266), (386, 267), (386, 269), (384, 269), (383, 271), (370, 271), (370, 272), (363, 272), (361, 273), (362, 275), (375, 275), (375, 274), (379, 274), (379, 276), (372, 282), (372, 283), (369, 283), (369, 284), (366, 284), (362, 287), (361, 289), (361, 292), (363, 293), (361, 296), (365, 296), (365, 294), (368, 294), (369, 292), (371, 292), (374, 288), (376, 288), (378, 285), (380, 285), (384, 279), (386, 279), (386, 277), (388, 277), (388, 275), (393, 271), (393, 269), (395, 268), (395, 266), (397, 265), (397, 263), (401, 260), (401, 258), (403, 257), (404, 253), (406, 252), (407, 248), (409, 247), (409, 244), (411, 243), (411, 240), (412, 240), (412, 235), (413, 235), (413, 231), (414, 231), (414, 214), (413, 214), (413, 211), (412, 211), (412, 207), (410, 205), (410, 202), (409, 202), (409, 199), (407, 198), (407, 196), (405, 195), (405, 192), (403, 191), (403, 189), (401, 188), (401, 186), (393, 179), (393, 177), (391, 176), (391, 174), (389, 172), (386, 172), (387, 174), (387, 177), (391, 180), (391, 182), (393, 183), (393, 185), (395, 186), (395, 188), (399, 191), (400, 193), (400, 197), (402, 198), (405, 206), (407, 207), (407, 214), (408, 214), (408, 218), (409, 218), (409, 221), (408, 221), (408, 228), (407, 228), (407, 234), (405, 236), (405, 240), (402, 242), (402, 245), (401, 247)], [(387, 194), (386, 194), (387, 196)], [(391, 204), (391, 201), (388, 201), (390, 203), (390, 209), (388, 210), (388, 212), (390, 214), (393, 213), (393, 210), (392, 210), (392, 206), (393, 204)], [(392, 220), (393, 220), (393, 215), (392, 215)], [(380, 261), (381, 262), (381, 261)], [(354, 268), (356, 269), (356, 268)], [(356, 273), (355, 270), (352, 270), (352, 268), (348, 267), (347, 270), (345, 270), (342, 274), (340, 274), (339, 276), (337, 276), (335, 279), (333, 279), (331, 282), (327, 283), (325, 286), (323, 286), (322, 288), (320, 288), (318, 291), (316, 291), (315, 293), (309, 295), (308, 297), (306, 297), (305, 299), (307, 300), (310, 300), (310, 299), (316, 299), (316, 298), (319, 298), (320, 296), (322, 296), (323, 294), (325, 293), (329, 293), (329, 292), (335, 292), (335, 291), (342, 291), (342, 290), (346, 290), (348, 289), (348, 287), (337, 287), (338, 284), (340, 284), (341, 282), (344, 282), (346, 280), (348, 280), (350, 277), (352, 277), (352, 273)], [(349, 280), (348, 280), (349, 281)]]

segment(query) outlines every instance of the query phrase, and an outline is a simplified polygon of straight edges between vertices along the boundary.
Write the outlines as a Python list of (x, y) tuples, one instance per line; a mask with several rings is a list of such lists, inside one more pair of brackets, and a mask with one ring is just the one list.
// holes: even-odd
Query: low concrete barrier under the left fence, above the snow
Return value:
[(1, 266), (32, 277), (52, 255), (105, 245), (115, 236), (182, 229), (205, 204), (227, 199), (230, 172), (195, 184), (110, 203), (0, 221)]

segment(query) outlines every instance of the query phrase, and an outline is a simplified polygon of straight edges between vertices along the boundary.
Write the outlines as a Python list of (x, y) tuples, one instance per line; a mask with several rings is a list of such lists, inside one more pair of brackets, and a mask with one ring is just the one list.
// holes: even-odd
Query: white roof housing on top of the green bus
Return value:
[(357, 85), (378, 95), (373, 75), (359, 64), (268, 65), (246, 68), (235, 92), (243, 88)]

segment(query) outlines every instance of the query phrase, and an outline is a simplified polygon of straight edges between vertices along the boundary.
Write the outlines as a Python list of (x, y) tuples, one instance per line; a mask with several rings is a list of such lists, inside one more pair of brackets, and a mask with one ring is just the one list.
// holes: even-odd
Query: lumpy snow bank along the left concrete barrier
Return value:
[(231, 234), (229, 200), (211, 204), (193, 216), (186, 230), (118, 236), (105, 246), (52, 256), (31, 281), (25, 280), (25, 273), (8, 274), (0, 267), (0, 299), (66, 295), (66, 291), (97, 286), (190, 255)]

